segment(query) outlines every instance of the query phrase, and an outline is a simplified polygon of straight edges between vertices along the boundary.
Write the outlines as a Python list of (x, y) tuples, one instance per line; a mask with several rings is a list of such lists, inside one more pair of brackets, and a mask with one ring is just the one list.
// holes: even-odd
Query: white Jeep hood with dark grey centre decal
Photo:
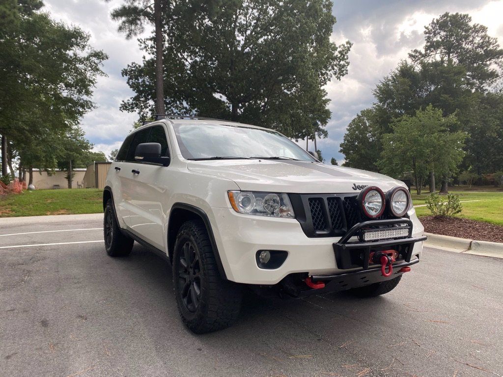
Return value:
[[(191, 161), (189, 170), (231, 179), (243, 191), (298, 194), (358, 193), (363, 185), (388, 191), (402, 181), (366, 170), (290, 160)], [(360, 186), (360, 187), (358, 187)]]

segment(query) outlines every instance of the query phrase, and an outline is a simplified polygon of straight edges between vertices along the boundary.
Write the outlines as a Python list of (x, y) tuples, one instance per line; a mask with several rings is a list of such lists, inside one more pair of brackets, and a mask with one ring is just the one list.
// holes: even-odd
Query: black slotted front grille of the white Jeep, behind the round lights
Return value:
[[(370, 220), (358, 207), (358, 194), (289, 194), (289, 197), (302, 230), (311, 238), (343, 236), (354, 225)], [(396, 218), (385, 211), (372, 220), (389, 219)]]

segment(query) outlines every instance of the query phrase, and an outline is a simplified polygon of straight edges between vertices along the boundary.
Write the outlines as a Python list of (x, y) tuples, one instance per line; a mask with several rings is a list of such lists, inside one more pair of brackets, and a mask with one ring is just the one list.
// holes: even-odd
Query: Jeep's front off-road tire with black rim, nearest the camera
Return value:
[[(188, 262), (185, 261), (187, 254), (184, 247), (194, 257), (191, 259), (189, 256)], [(187, 221), (178, 232), (173, 253), (173, 286), (182, 321), (196, 334), (229, 327), (239, 315), (241, 286), (220, 277), (213, 247), (202, 221)], [(191, 290), (196, 292), (196, 300), (189, 299)], [(193, 305), (188, 305), (188, 301)]]

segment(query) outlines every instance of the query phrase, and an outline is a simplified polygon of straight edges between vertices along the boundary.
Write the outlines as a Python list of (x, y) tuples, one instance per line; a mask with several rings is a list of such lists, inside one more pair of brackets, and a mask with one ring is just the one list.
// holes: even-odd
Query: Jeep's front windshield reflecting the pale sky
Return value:
[(289, 159), (315, 161), (287, 137), (275, 131), (219, 124), (175, 124), (182, 156), (203, 159)]

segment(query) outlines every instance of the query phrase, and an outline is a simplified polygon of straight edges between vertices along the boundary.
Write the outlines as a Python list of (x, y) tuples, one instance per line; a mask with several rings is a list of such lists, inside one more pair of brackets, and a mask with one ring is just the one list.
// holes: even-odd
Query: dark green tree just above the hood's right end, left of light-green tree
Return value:
[(379, 171), (377, 161), (382, 152), (383, 133), (375, 109), (362, 110), (348, 125), (341, 143), (340, 152), (346, 158), (344, 166)]

